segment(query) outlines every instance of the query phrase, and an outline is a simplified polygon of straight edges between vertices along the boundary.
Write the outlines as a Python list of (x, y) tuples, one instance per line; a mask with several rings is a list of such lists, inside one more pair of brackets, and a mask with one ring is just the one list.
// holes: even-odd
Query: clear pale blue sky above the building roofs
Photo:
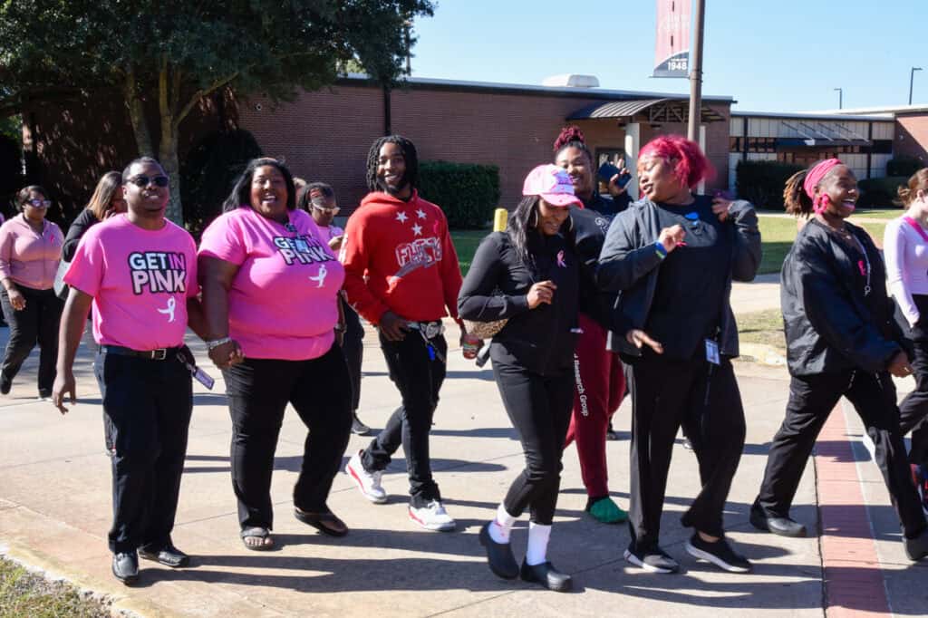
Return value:
[[(541, 84), (583, 73), (602, 88), (689, 92), (649, 77), (653, 0), (437, 0), (419, 19), (413, 75)], [(703, 93), (736, 109), (928, 104), (928, 0), (707, 0)]]

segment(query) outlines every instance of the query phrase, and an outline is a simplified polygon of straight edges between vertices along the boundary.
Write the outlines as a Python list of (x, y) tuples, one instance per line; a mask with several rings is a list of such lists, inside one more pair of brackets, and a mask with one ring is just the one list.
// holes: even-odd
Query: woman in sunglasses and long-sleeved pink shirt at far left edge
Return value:
[(21, 211), (0, 225), (0, 304), (9, 325), (9, 341), (0, 366), (0, 394), (9, 393), (23, 361), (39, 344), (39, 397), (52, 394), (58, 357), (58, 320), (64, 303), (52, 286), (64, 237), (45, 219), (51, 201), (38, 185), (17, 194)]

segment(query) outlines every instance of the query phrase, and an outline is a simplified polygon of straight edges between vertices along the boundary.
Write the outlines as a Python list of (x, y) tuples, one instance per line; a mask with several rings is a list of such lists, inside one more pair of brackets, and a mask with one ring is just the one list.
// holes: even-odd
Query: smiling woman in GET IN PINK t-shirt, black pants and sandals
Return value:
[(283, 164), (249, 163), (203, 232), (199, 266), (207, 347), (226, 378), (245, 547), (274, 545), (271, 472), (288, 403), (309, 429), (294, 515), (325, 534), (346, 534), (326, 504), (351, 431), (351, 381), (336, 343), (344, 270), (309, 214), (296, 210)]

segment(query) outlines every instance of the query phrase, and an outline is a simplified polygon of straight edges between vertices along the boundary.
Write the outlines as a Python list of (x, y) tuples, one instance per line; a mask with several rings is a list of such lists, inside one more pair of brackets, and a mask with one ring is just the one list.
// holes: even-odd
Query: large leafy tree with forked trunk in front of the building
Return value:
[(139, 154), (171, 176), (168, 216), (179, 223), (177, 137), (203, 97), (230, 87), (291, 100), (334, 82), (352, 58), (395, 79), (407, 20), (432, 9), (431, 0), (0, 0), (0, 116), (28, 100), (119, 87)]

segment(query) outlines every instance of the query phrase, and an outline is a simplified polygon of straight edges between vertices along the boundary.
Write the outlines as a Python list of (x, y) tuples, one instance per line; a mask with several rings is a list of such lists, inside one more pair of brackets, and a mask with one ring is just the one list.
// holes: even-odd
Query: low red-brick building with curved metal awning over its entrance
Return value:
[[(703, 139), (717, 172), (710, 187), (728, 182), (732, 102), (703, 97)], [(413, 78), (391, 93), (389, 105), (391, 131), (412, 139), (419, 160), (497, 165), (500, 205), (513, 208), (525, 174), (551, 161), (565, 124), (583, 130), (600, 161), (624, 156), (634, 170), (638, 148), (652, 137), (686, 135), (689, 101), (661, 93)], [(238, 106), (238, 125), (268, 156), (285, 158), (294, 174), (308, 180), (329, 182), (349, 208), (366, 193), (367, 149), (383, 135), (385, 117), (380, 87), (362, 76), (292, 103), (273, 106), (256, 97)]]

